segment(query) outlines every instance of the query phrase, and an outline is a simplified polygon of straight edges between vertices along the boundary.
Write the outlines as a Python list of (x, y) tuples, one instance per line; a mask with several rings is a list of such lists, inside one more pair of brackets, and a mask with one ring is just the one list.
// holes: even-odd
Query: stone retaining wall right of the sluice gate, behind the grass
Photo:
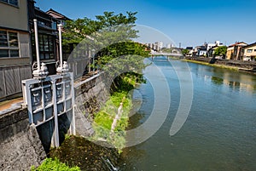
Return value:
[(104, 74), (85, 80), (79, 86), (75, 86), (76, 94), (76, 131), (77, 134), (88, 137), (94, 133), (91, 123), (93, 114), (100, 111), (102, 105), (108, 100), (108, 85)]

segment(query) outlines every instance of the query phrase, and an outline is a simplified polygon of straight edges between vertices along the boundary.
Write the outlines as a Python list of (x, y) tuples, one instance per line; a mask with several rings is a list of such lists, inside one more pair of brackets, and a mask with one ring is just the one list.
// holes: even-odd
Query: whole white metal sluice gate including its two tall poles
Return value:
[(35, 44), (37, 54), (36, 68), (32, 66), (32, 79), (22, 80), (23, 101), (27, 107), (29, 123), (38, 127), (54, 120), (55, 147), (60, 145), (58, 117), (66, 114), (70, 123), (70, 133), (75, 133), (73, 72), (68, 72), (67, 61), (62, 60), (61, 29), (58, 25), (60, 42), (60, 65), (56, 66), (56, 75), (47, 76), (48, 68), (40, 63), (38, 46), (38, 21), (34, 21)]

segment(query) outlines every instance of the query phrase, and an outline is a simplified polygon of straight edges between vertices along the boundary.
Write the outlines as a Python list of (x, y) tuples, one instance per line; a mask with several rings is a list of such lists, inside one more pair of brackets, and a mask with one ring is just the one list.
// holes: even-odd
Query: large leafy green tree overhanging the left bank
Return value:
[[(79, 58), (87, 58), (91, 61), (87, 53), (90, 50), (94, 56), (91, 63), (95, 64), (91, 67), (100, 67), (113, 76), (117, 76), (120, 71), (134, 71), (134, 68), (137, 71), (142, 70), (145, 66), (139, 56), (148, 56), (149, 52), (145, 51), (144, 45), (132, 42), (138, 32), (134, 29), (136, 14), (136, 12), (126, 12), (126, 15), (104, 12), (103, 15), (96, 15), (96, 20), (84, 18), (67, 21), (63, 44), (78, 44), (73, 51), (73, 59), (79, 56)], [(129, 57), (109, 63), (125, 55)]]

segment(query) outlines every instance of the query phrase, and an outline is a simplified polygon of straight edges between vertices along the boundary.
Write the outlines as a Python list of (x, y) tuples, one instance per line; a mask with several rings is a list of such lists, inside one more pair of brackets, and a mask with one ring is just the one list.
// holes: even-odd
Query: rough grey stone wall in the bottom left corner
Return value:
[(0, 170), (30, 170), (46, 157), (37, 129), (26, 109), (0, 116)]

